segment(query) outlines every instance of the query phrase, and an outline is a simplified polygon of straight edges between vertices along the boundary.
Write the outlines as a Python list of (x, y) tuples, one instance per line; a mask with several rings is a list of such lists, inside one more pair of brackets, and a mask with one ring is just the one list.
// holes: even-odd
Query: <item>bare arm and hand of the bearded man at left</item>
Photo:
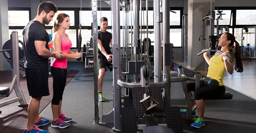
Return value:
[(41, 57), (44, 57), (44, 58), (54, 57), (56, 59), (63, 59), (64, 58), (64, 56), (61, 54), (63, 52), (50, 52), (45, 47), (45, 45), (46, 45), (45, 41), (35, 41), (36, 52)]

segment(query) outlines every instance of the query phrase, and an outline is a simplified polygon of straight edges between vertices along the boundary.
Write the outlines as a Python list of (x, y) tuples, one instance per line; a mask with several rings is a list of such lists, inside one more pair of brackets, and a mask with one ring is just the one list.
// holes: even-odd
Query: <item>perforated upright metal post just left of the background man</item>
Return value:
[(93, 61), (94, 61), (94, 124), (99, 123), (99, 100), (98, 100), (98, 23), (97, 23), (97, 0), (92, 0), (93, 14)]

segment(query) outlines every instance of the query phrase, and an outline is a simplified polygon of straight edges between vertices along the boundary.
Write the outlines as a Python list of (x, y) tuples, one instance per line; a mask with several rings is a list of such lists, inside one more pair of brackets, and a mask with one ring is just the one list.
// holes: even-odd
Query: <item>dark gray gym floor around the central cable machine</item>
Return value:
[[(113, 124), (94, 124), (93, 102), (93, 69), (84, 69), (81, 62), (68, 63), (68, 69), (79, 70), (79, 73), (68, 83), (63, 94), (62, 111), (68, 117), (73, 117), (71, 125), (67, 128), (52, 128), (50, 124), (40, 127), (50, 133), (112, 133)], [(185, 104), (180, 83), (171, 84), (171, 104)], [(233, 93), (232, 100), (206, 101), (206, 126), (200, 129), (190, 126), (191, 123), (183, 119), (185, 133), (253, 133), (256, 131), (256, 100), (226, 87)], [(100, 102), (99, 112), (106, 114), (112, 110), (112, 72), (107, 71), (102, 92), (106, 98)], [(124, 94), (124, 90), (122, 90)], [(51, 106), (48, 105), (41, 114), (44, 119), (52, 120)], [(51, 122), (50, 122), (51, 123)]]

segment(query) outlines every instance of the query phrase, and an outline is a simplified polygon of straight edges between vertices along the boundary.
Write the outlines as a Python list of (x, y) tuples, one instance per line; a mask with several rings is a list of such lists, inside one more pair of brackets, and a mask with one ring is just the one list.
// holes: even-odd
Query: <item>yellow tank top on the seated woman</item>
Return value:
[[(226, 53), (229, 51), (226, 51)], [(217, 54), (217, 53), (216, 53)], [(208, 68), (207, 77), (216, 79), (219, 81), (219, 86), (224, 86), (223, 84), (223, 75), (226, 70), (224, 62), (221, 60), (222, 55), (213, 56), (210, 59), (210, 65)]]

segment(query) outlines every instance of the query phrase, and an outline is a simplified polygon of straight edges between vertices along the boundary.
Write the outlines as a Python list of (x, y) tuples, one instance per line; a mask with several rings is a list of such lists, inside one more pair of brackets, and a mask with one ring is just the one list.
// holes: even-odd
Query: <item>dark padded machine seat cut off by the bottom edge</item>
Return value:
[(164, 126), (150, 126), (143, 129), (143, 133), (174, 133), (171, 128)]

